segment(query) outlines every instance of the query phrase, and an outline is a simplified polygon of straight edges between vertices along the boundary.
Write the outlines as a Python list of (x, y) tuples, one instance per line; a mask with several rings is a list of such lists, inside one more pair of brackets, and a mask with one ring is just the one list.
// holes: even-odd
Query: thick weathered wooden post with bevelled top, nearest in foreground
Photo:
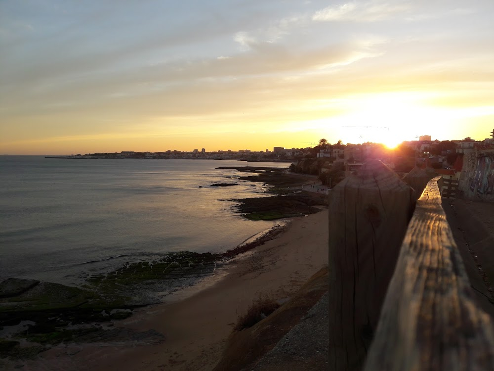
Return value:
[(377, 160), (330, 192), (330, 370), (363, 366), (413, 198), (412, 188)]

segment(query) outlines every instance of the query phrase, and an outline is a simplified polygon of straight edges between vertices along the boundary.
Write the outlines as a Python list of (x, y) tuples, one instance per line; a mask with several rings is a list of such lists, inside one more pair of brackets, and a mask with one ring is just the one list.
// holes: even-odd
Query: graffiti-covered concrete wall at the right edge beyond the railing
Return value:
[(465, 153), (458, 188), (464, 198), (494, 201), (494, 150)]

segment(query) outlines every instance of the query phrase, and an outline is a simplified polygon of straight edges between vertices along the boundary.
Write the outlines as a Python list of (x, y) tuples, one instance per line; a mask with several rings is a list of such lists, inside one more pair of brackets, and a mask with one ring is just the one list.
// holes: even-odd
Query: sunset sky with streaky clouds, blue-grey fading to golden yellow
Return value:
[(483, 140), (492, 0), (0, 0), (0, 154)]

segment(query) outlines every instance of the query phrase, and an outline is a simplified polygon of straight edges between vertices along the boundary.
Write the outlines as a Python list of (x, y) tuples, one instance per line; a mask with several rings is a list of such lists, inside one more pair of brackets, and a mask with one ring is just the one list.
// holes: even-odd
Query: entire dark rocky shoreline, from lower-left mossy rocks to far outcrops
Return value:
[[(258, 174), (238, 179), (264, 182), (271, 193), (276, 193), (235, 200), (239, 202), (238, 212), (247, 219), (275, 220), (320, 211), (316, 207), (320, 200), (290, 194), (303, 181), (282, 176), (280, 170), (247, 171)], [(287, 226), (279, 224), (221, 254), (182, 251), (165, 254), (152, 262), (126, 263), (113, 272), (87, 278), (82, 287), (16, 278), (4, 280), (0, 282), (0, 359), (36, 358), (60, 343), (98, 343), (122, 338), (159, 343), (163, 335), (158, 332), (124, 330), (128, 333), (123, 334), (123, 329), (116, 329), (113, 324), (131, 316), (137, 307), (156, 303), (156, 298), (142, 295), (150, 288), (170, 292), (177, 285), (193, 285), (214, 274), (232, 257), (273, 239)]]

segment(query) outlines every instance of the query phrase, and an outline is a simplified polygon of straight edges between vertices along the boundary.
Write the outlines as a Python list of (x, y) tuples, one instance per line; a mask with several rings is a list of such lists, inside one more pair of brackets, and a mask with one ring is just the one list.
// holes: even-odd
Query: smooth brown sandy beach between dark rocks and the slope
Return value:
[(116, 327), (163, 337), (58, 345), (21, 370), (212, 370), (238, 316), (260, 295), (287, 300), (328, 264), (328, 211), (291, 218), (285, 232), (231, 260), (206, 287), (141, 308)]

